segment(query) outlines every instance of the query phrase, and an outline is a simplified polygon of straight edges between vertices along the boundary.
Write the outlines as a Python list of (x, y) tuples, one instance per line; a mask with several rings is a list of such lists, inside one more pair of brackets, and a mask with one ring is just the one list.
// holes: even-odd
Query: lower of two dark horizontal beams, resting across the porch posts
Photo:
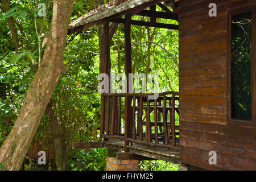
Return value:
[[(110, 22), (125, 23), (125, 19), (115, 18), (115, 19), (110, 20)], [(131, 24), (138, 25), (138, 26), (167, 28), (167, 29), (179, 30), (179, 26), (177, 24), (155, 23), (155, 25), (151, 25), (150, 22), (144, 22), (144, 21), (141, 21), (141, 20), (131, 20)]]

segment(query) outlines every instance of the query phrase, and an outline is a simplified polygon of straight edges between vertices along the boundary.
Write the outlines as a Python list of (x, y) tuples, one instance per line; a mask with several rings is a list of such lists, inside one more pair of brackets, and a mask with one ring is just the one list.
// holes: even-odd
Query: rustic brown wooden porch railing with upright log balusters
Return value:
[(151, 94), (121, 93), (101, 95), (100, 138), (124, 141), (125, 151), (133, 143), (178, 150), (179, 93), (159, 93), (155, 100)]

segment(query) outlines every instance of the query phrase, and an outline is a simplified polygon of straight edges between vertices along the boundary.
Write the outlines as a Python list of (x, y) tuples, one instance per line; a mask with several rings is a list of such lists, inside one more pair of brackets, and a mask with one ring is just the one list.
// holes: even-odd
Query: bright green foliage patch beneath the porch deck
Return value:
[(178, 171), (180, 165), (164, 160), (143, 160), (139, 163), (139, 171)]

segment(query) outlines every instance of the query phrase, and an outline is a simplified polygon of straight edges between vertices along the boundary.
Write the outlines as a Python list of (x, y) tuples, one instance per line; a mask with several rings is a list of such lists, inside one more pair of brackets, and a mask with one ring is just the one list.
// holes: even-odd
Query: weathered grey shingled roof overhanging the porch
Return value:
[[(89, 11), (85, 15), (82, 15), (80, 18), (74, 20), (71, 24), (69, 24), (69, 29), (73, 29), (92, 22), (99, 23), (101, 20), (103, 21), (112, 15), (126, 12), (126, 10), (133, 9), (136, 6), (153, 1), (156, 0), (112, 0), (109, 3), (101, 5), (97, 9)], [(159, 2), (161, 1), (158, 1), (158, 3)]]

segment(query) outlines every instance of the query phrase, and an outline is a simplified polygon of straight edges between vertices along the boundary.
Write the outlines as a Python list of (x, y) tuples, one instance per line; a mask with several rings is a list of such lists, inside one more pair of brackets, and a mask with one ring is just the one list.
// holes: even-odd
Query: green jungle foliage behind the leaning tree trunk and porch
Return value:
[[(36, 1), (30, 1), (35, 7)], [(48, 1), (40, 1), (48, 5)], [(0, 146), (10, 133), (19, 110), (22, 107), (30, 82), (38, 68), (39, 52), (36, 25), (43, 27), (41, 42), (49, 31), (52, 5), (45, 21), (32, 11), (28, 1), (10, 2), (11, 10), (0, 12)], [(94, 9), (93, 0), (75, 1), (71, 21)], [(160, 11), (160, 9), (158, 9)], [(20, 48), (15, 52), (6, 18), (13, 15), (19, 35)], [(134, 16), (134, 19), (139, 17)], [(161, 20), (160, 23), (174, 23)], [(111, 46), (114, 73), (124, 73), (124, 26), (119, 24)], [(69, 66), (61, 76), (51, 98), (51, 105), (63, 131), (68, 150), (68, 164), (71, 170), (104, 170), (106, 150), (72, 150), (73, 142), (98, 141), (97, 128), (100, 126), (100, 94), (97, 92), (99, 73), (99, 45), (97, 27), (89, 28), (67, 36), (64, 63)], [(151, 39), (148, 39), (151, 36)], [(158, 73), (159, 92), (179, 90), (178, 32), (160, 28), (132, 26), (132, 59), (134, 73)], [(151, 46), (148, 46), (151, 44)], [(41, 55), (43, 55), (42, 49)], [(148, 62), (150, 53), (150, 62)], [(1, 91), (4, 92), (1, 92)], [(176, 115), (178, 125), (179, 116)], [(47, 148), (52, 143), (49, 117), (44, 114), (32, 143), (40, 143)], [(177, 169), (170, 163), (152, 161), (141, 162), (140, 168), (147, 170)]]

